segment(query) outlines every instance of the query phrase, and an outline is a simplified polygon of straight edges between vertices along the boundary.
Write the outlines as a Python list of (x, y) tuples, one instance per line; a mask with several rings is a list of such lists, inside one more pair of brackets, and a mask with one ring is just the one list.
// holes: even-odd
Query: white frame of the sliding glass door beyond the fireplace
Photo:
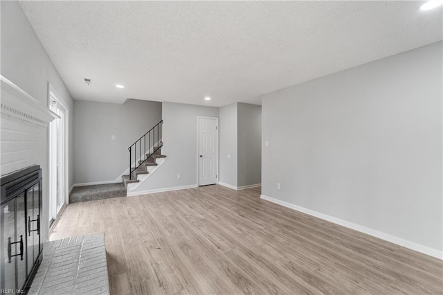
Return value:
[[(51, 105), (53, 104), (53, 100), (57, 103), (57, 105), (60, 105), (64, 109), (64, 155), (63, 155), (63, 165), (64, 165), (64, 186), (63, 186), (63, 193), (64, 193), (64, 206), (69, 204), (69, 107), (66, 105), (66, 103), (61, 99), (62, 96), (55, 90), (53, 85), (48, 82), (48, 108), (51, 109)], [(50, 127), (49, 127), (50, 128)], [(50, 129), (48, 129), (50, 130)], [(48, 147), (51, 144), (51, 131), (48, 132)], [(49, 149), (48, 149), (49, 150)], [(48, 170), (50, 169), (49, 163), (51, 163), (50, 159), (51, 155), (48, 157)], [(48, 173), (48, 175), (51, 175), (51, 172)], [(51, 179), (48, 179), (48, 188), (49, 191), (51, 191)], [(51, 202), (51, 197), (49, 198), (49, 202)], [(51, 204), (48, 203), (48, 210), (51, 210)], [(55, 204), (57, 207), (57, 204)], [(60, 211), (57, 212), (57, 218), (59, 217), (60, 213), (63, 211), (63, 207), (60, 208)], [(57, 210), (57, 208), (55, 208)], [(49, 211), (48, 211), (49, 212)], [(51, 212), (49, 212), (51, 214)], [(51, 233), (51, 231), (50, 231)]]

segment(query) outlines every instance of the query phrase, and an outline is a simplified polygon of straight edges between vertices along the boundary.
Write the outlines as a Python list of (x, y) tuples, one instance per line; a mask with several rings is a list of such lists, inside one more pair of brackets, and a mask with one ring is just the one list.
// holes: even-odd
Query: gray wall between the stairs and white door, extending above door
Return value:
[(167, 158), (135, 192), (197, 184), (197, 116), (218, 118), (219, 108), (163, 102), (162, 153)]

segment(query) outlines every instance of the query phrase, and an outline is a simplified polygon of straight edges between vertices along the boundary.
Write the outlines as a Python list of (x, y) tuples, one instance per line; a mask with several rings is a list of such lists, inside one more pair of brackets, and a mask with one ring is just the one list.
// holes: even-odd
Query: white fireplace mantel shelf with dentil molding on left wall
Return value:
[(55, 118), (60, 118), (3, 75), (0, 75), (0, 80), (1, 114), (26, 120), (43, 127), (48, 126)]

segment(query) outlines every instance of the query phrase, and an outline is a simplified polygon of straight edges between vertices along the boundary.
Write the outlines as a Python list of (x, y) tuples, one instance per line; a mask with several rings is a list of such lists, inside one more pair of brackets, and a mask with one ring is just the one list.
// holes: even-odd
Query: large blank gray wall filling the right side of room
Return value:
[(442, 251), (442, 78), (439, 42), (263, 96), (262, 194)]

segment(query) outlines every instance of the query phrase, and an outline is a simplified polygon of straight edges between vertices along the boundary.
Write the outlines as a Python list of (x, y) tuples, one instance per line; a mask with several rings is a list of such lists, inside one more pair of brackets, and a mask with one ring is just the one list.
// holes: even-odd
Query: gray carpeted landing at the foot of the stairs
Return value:
[(98, 184), (96, 186), (75, 186), (69, 195), (69, 202), (93, 201), (111, 197), (126, 197), (125, 185), (120, 182), (118, 184)]

